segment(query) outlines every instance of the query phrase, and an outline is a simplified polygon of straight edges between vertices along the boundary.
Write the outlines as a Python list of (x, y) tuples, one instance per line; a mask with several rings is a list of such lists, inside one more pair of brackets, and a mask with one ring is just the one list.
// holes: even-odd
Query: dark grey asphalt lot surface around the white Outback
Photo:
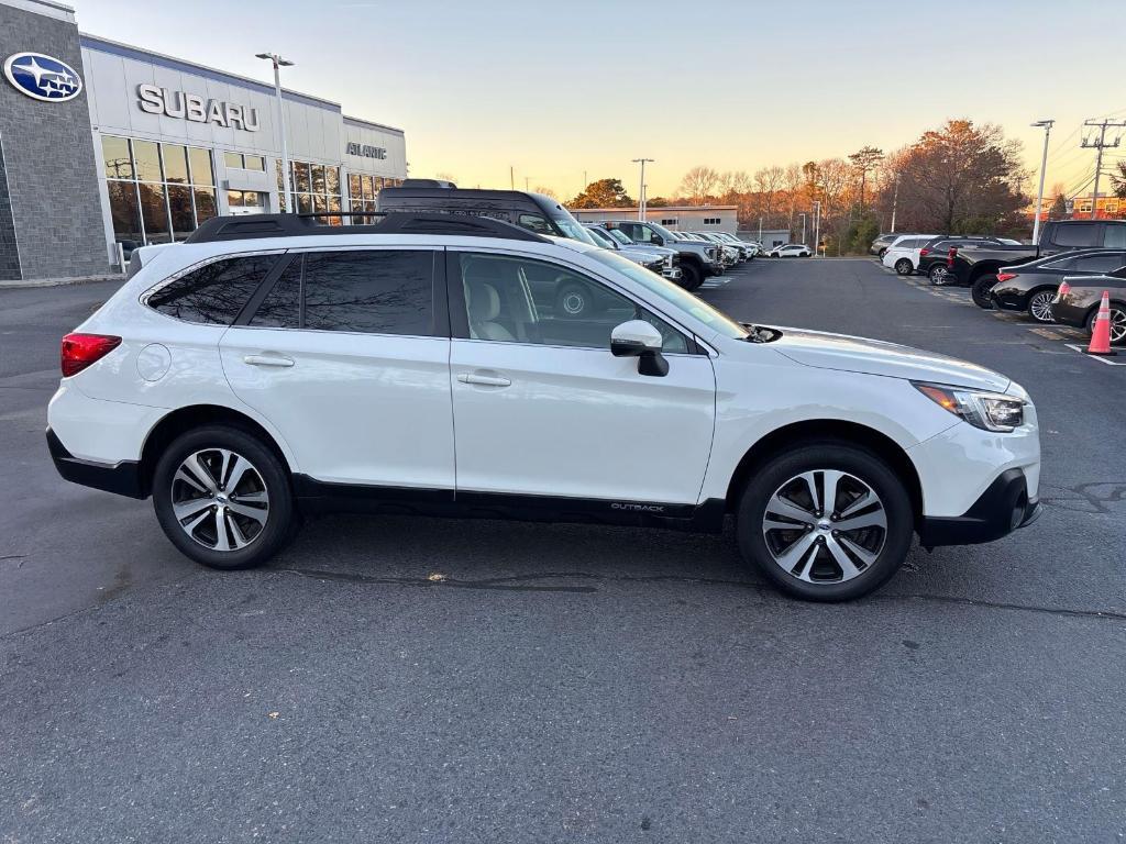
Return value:
[(0, 842), (1126, 836), (1126, 367), (1070, 330), (866, 259), (705, 285), (1038, 406), (1039, 521), (807, 605), (730, 531), (333, 517), (198, 568), (46, 454), (57, 340), (109, 289), (0, 290)]

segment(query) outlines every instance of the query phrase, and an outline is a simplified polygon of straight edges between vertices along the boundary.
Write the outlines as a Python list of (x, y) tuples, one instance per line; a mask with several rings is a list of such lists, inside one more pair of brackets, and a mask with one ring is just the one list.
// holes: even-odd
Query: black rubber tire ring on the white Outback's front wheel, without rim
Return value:
[[(879, 496), (884, 506), (887, 527), (878, 554), (851, 580), (817, 583), (799, 580), (775, 562), (763, 536), (763, 517), (775, 492), (787, 479), (819, 469), (837, 469), (855, 476)], [(868, 449), (834, 440), (797, 446), (756, 469), (739, 501), (735, 521), (743, 559), (783, 592), (806, 601), (849, 601), (879, 589), (906, 559), (913, 531), (911, 499), (896, 474)]]

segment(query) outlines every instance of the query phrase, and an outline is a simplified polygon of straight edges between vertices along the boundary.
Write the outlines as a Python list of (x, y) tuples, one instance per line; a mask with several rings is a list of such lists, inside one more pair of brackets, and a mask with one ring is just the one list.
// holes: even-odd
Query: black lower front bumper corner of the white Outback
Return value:
[(1025, 473), (1008, 469), (963, 515), (923, 517), (919, 524), (919, 541), (927, 548), (992, 542), (1031, 524), (1039, 515), (1040, 504), (1036, 499), (1029, 499)]

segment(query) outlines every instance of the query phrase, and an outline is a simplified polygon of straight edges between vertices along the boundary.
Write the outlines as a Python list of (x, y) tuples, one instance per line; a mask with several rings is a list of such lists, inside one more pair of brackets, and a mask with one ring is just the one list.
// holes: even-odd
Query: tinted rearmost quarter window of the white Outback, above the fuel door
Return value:
[(164, 285), (146, 304), (185, 322), (230, 325), (277, 260), (278, 255), (245, 255), (213, 261)]

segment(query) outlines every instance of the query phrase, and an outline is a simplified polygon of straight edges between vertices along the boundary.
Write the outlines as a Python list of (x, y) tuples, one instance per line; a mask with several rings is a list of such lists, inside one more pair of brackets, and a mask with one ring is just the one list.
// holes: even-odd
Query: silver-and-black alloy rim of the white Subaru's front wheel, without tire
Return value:
[(867, 572), (887, 540), (887, 513), (856, 475), (813, 469), (779, 486), (762, 514), (775, 565), (812, 584), (846, 583)]

